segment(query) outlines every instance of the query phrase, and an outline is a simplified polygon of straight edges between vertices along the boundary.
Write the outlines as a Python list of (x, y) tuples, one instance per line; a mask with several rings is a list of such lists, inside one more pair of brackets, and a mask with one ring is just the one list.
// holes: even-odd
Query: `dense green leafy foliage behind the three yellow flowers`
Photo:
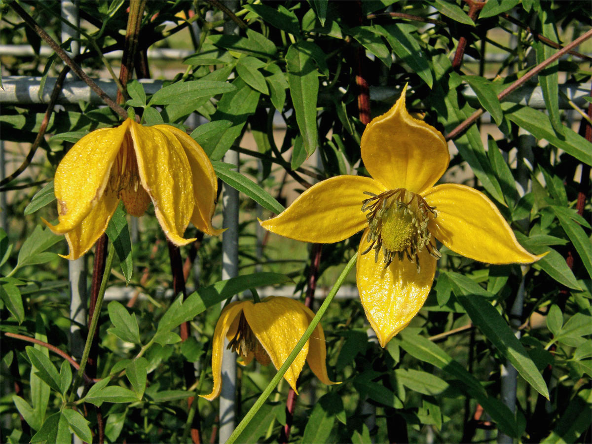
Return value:
[[(4, 80), (41, 76), (44, 83), (57, 76), (60, 59), (40, 55), (40, 38), (9, 3), (2, 4), (0, 39), (26, 44), (34, 55), (2, 56)], [(60, 41), (60, 2), (19, 4)], [(2, 442), (69, 442), (70, 433), (96, 442), (91, 404), (102, 413), (106, 442), (189, 440), (186, 399), (211, 387), (211, 337), (220, 301), (289, 278), (297, 282), (297, 297), (306, 286), (307, 246), (272, 236), (258, 255), (257, 214), (267, 218), (284, 208), (284, 195), (278, 194), (284, 176), (302, 189), (334, 175), (365, 174), (356, 76), (370, 87), (372, 117), (387, 110), (406, 83), (408, 107), (443, 134), (484, 108), (492, 124), (485, 118), (453, 138), (458, 154), (451, 160), (452, 179), (460, 177), (487, 194), (523, 246), (549, 254), (532, 266), (495, 266), (442, 247), (426, 305), (385, 349), (369, 337), (359, 300), (334, 300), (322, 323), (330, 377), (343, 382), (325, 387), (304, 369), (290, 440), (494, 442), (503, 433), (522, 442), (590, 442), (592, 146), (585, 119), (574, 112), (587, 113), (589, 120), (590, 41), (577, 49), (586, 57), (567, 54), (503, 101), (497, 98), (558, 51), (545, 41), (565, 46), (590, 30), (590, 5), (488, 0), (471, 20), (471, 4), (237, 1), (230, 4), (231, 20), (218, 2), (147, 2), (139, 54), (149, 47), (195, 53), (174, 63), (150, 61), (149, 72), (174, 74), (163, 78), (154, 94), (141, 82), (128, 83), (126, 108), (144, 124), (164, 122), (192, 131), (221, 180), (242, 192), (241, 276), (231, 288), (220, 284), (220, 240), (206, 236), (195, 259), (200, 274), (188, 281), (197, 292), (183, 303), (175, 299), (165, 291), (171, 285), (165, 238), (147, 214), (131, 256), (129, 241), (124, 242), (115, 260), (121, 271), (116, 263), (110, 280), (118, 287), (129, 280), (128, 288), (146, 298), (131, 308), (117, 301), (105, 305), (98, 335), (101, 381), (86, 384), (82, 398), (67, 402), (75, 372), (69, 363), (43, 346), (4, 336), (36, 337), (72, 355), (66, 260), (56, 255), (67, 247), (40, 218), (57, 217), (51, 180), (67, 149), (89, 131), (116, 126), (120, 118), (108, 107), (85, 102), (60, 107), (41, 141), (43, 156), (1, 188), (8, 200), (8, 230), (0, 233)], [(89, 54), (80, 63), (91, 77), (108, 76), (93, 48), (123, 48), (127, 6), (117, 0), (79, 3), (85, 31), (80, 43)], [(467, 40), (465, 56), (453, 67), (461, 38)], [(140, 70), (140, 76), (146, 74)], [(588, 96), (568, 102), (562, 85), (588, 88)], [(542, 109), (522, 101), (520, 93), (533, 87), (542, 94)], [(46, 105), (2, 105), (0, 130), (11, 165), (24, 160), (17, 144), (27, 152), (45, 111)], [(188, 127), (195, 121), (188, 121), (190, 115), (204, 123)], [(281, 143), (274, 139), (278, 120), (285, 126)], [(256, 150), (245, 146), (246, 133)], [(241, 169), (248, 177), (223, 162), (229, 150), (248, 159)], [(305, 163), (317, 155), (318, 168)], [(123, 211), (111, 230), (112, 238), (129, 239)], [(186, 235), (196, 232), (190, 227)], [(321, 286), (333, 284), (358, 236), (323, 246)], [(191, 254), (189, 247), (182, 249), (184, 258)], [(92, 269), (92, 253), (85, 258)], [(191, 320), (195, 334), (181, 343), (178, 326), (185, 320)], [(185, 362), (197, 368), (194, 387), (185, 387)], [(520, 374), (515, 413), (503, 402), (501, 366), (507, 362)], [(239, 371), (239, 417), (274, 374), (273, 368), (255, 365)], [(14, 382), (22, 388), (20, 396), (12, 390)], [(287, 384), (278, 386), (239, 442), (278, 442), (287, 420), (287, 390)], [(542, 395), (547, 391), (550, 401)], [(81, 408), (83, 403), (88, 408)], [(200, 398), (197, 409), (202, 436), (209, 437), (217, 402)]]

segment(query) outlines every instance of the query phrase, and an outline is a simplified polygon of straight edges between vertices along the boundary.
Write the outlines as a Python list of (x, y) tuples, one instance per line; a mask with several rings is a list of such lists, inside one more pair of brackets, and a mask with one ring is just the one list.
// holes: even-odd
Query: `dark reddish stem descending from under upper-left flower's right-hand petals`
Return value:
[[(179, 293), (185, 297), (185, 278), (183, 276), (183, 263), (181, 260), (181, 250), (179, 247), (170, 242), (167, 239), (166, 241), (169, 247), (169, 259), (170, 259), (170, 271), (172, 272), (173, 277), (173, 293), (174, 297), (176, 298)], [(180, 336), (181, 341), (184, 342), (189, 338), (189, 323), (184, 322), (180, 326)], [(183, 374), (185, 377), (185, 387), (191, 387), (195, 382), (195, 369), (191, 362), (183, 362)], [(194, 402), (194, 397), (189, 397), (187, 399), (188, 408), (191, 407), (191, 404)], [(197, 402), (197, 401), (195, 401)], [(193, 418), (193, 422), (191, 424), (191, 439), (194, 443), (201, 443), (201, 418), (200, 418), (200, 411), (195, 409), (195, 416)]]

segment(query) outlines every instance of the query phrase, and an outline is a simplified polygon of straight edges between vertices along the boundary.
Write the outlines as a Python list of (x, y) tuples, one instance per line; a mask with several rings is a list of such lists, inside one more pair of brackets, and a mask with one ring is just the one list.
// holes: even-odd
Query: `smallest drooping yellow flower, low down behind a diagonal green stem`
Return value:
[[(229, 349), (242, 358), (239, 363), (247, 365), (253, 358), (261, 365), (273, 363), (276, 369), (288, 359), (289, 354), (308, 328), (314, 313), (303, 303), (285, 297), (269, 296), (259, 303), (235, 301), (222, 310), (214, 330), (212, 372), (214, 388), (209, 395), (201, 395), (212, 401), (220, 394), (221, 368), (224, 337), (229, 340)], [(318, 324), (305, 343), (284, 378), (298, 394), (296, 380), (304, 361), (324, 384), (335, 384), (327, 376), (325, 358), (325, 335)]]

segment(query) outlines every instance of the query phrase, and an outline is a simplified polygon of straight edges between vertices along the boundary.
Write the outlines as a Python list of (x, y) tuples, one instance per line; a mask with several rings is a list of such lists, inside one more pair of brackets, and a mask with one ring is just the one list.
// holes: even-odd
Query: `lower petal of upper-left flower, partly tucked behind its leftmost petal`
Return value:
[(115, 193), (105, 193), (82, 222), (66, 233), (70, 254), (62, 257), (70, 260), (78, 259), (91, 249), (101, 234), (107, 230), (118, 204), (119, 198)]

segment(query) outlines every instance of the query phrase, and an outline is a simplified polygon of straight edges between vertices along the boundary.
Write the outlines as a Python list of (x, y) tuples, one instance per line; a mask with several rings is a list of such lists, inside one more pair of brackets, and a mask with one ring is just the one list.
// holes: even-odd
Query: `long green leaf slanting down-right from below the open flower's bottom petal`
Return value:
[(401, 348), (414, 358), (420, 361), (428, 362), (444, 371), (449, 376), (458, 379), (462, 383), (462, 390), (474, 398), (490, 414), (497, 426), (506, 435), (519, 435), (516, 420), (510, 409), (499, 400), (488, 397), (487, 392), (481, 386), (480, 382), (472, 374), (452, 359), (444, 350), (440, 349), (435, 343), (419, 334), (400, 333)]

